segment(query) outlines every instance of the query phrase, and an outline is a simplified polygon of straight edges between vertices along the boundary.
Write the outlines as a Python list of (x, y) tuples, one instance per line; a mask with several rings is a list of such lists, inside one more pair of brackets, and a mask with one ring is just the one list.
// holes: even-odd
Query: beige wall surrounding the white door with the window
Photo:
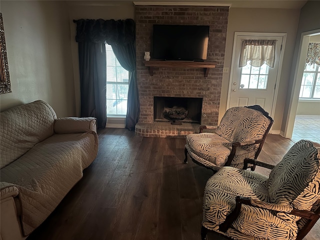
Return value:
[[(296, 28), (299, 20), (299, 9), (276, 8), (233, 8), (229, 10), (228, 29), (226, 36), (224, 67), (231, 66), (233, 37), (235, 31), (242, 32), (283, 32), (287, 33), (286, 44), (281, 67), (278, 95), (273, 116), (273, 132), (279, 132), (282, 113), (287, 94), (291, 60), (295, 43)], [(223, 73), (219, 108), (219, 120), (227, 106), (227, 94), (230, 71)]]

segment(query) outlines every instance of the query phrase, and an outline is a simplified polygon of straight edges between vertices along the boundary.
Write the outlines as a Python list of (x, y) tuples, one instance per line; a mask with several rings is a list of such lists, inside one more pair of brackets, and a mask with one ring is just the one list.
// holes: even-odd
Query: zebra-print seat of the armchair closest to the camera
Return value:
[(218, 230), (218, 225), (235, 207), (236, 196), (267, 201), (267, 186), (268, 178), (262, 174), (230, 166), (221, 167), (206, 182), (202, 224), (208, 229)]

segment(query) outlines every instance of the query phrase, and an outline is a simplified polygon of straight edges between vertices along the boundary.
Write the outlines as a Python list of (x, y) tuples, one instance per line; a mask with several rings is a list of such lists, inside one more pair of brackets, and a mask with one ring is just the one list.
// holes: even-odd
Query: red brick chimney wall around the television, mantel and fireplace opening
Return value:
[[(153, 96), (189, 96), (203, 98), (201, 124), (217, 124), (228, 10), (218, 6), (135, 6), (139, 122), (153, 122)], [(216, 68), (204, 77), (203, 68), (157, 67), (150, 76), (143, 55), (152, 50), (153, 24), (209, 25), (207, 61), (216, 61)], [(150, 55), (152, 59), (152, 51)]]

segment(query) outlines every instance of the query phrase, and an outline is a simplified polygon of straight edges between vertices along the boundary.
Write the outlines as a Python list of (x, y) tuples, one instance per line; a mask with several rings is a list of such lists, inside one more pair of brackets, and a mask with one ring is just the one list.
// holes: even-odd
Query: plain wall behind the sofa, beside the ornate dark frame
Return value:
[(75, 115), (69, 18), (64, 1), (0, 1), (12, 92), (0, 110), (37, 99)]

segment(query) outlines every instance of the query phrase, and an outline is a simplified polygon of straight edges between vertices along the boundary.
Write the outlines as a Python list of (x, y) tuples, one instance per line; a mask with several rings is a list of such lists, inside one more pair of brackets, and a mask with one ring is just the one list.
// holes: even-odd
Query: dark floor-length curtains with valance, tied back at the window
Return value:
[(125, 127), (134, 130), (140, 111), (136, 83), (134, 20), (79, 19), (74, 22), (77, 24), (75, 39), (79, 44), (81, 116), (94, 116), (97, 118), (98, 127), (105, 127), (106, 57), (104, 42), (107, 42), (112, 46), (121, 66), (129, 71)]

